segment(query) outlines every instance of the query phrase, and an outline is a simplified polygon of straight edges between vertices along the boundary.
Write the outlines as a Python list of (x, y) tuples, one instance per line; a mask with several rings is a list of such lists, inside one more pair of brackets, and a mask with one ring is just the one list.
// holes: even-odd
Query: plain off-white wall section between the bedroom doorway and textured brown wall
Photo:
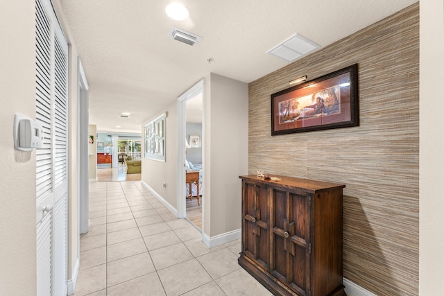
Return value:
[(204, 110), (203, 223), (212, 238), (241, 228), (239, 175), (248, 173), (248, 84), (210, 73)]

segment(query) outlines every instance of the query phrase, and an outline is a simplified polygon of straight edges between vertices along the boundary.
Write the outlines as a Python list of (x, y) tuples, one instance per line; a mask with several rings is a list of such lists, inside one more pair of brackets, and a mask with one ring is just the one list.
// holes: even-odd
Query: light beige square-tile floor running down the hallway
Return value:
[(240, 240), (208, 248), (139, 181), (94, 182), (75, 296), (271, 295), (238, 263)]

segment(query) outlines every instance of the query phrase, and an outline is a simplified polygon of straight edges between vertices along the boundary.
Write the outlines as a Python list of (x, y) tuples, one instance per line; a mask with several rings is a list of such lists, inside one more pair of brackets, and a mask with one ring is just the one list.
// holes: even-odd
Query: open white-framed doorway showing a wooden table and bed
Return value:
[[(178, 98), (178, 218), (203, 232), (205, 139), (203, 80)], [(187, 183), (189, 182), (189, 183)]]

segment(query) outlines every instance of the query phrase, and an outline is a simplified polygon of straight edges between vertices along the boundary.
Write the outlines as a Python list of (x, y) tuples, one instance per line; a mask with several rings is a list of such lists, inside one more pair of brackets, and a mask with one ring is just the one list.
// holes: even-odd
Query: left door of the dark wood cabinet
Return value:
[(242, 252), (268, 270), (269, 210), (266, 186), (244, 183)]

